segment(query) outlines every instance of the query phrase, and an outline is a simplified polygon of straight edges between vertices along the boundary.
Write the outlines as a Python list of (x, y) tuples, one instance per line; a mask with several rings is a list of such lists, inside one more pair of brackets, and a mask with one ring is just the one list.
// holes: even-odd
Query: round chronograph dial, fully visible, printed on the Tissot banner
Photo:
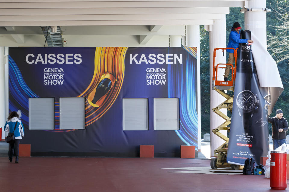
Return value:
[(237, 106), (244, 112), (251, 112), (256, 105), (256, 96), (249, 90), (240, 92), (237, 96)]

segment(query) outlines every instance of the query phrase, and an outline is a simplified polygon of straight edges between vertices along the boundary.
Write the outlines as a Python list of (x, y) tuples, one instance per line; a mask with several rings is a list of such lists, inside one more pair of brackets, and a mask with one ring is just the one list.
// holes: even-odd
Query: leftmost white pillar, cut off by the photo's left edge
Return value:
[(4, 47), (0, 46), (0, 127), (2, 127), (1, 139), (5, 139), (5, 131), (3, 126), (5, 125), (5, 59), (4, 59)]

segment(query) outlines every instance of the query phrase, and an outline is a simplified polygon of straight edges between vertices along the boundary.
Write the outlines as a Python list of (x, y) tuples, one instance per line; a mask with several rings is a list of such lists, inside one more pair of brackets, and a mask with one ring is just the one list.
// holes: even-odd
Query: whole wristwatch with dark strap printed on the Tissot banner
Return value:
[(252, 68), (250, 65), (245, 66), (245, 88), (237, 96), (237, 106), (239, 115), (243, 117), (244, 128), (249, 126), (251, 117), (259, 107), (258, 96), (251, 91)]

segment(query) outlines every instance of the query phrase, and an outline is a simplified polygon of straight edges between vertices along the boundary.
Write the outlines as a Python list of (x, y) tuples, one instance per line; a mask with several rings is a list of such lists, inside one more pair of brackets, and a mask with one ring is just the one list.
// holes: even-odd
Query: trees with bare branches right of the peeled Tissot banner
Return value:
[[(289, 118), (289, 2), (267, 0), (267, 7), (272, 11), (267, 13), (267, 50), (277, 62), (279, 74), (283, 83), (284, 91), (270, 115), (274, 117), (277, 109), (282, 109), (284, 117)], [(287, 134), (289, 131), (287, 131)], [(272, 135), (272, 125), (269, 123), (269, 134)]]

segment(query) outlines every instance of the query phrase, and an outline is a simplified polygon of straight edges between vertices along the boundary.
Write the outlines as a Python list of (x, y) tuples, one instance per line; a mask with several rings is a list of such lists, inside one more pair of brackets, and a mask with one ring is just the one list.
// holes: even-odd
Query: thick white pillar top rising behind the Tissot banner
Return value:
[(256, 35), (261, 44), (267, 49), (267, 33), (266, 33), (266, 0), (248, 1), (249, 11), (245, 11), (245, 30), (250, 30)]

